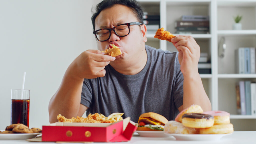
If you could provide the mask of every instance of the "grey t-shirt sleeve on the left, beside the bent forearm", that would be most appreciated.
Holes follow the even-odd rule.
[[[92,88],[91,82],[89,79],[84,79],[83,81],[83,88],[81,94],[81,102],[82,105],[90,108],[92,104]]]

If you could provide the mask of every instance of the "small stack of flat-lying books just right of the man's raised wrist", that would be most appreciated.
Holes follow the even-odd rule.
[[[208,53],[201,53],[198,62],[199,74],[211,74],[211,62],[208,60]]]

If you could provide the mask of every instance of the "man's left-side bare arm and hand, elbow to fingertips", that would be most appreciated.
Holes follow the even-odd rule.
[[[49,102],[49,121],[54,123],[57,115],[66,118],[79,116],[88,109],[80,104],[84,78],[103,77],[105,66],[115,57],[104,55],[100,50],[87,50],[81,53],[68,67],[57,92]]]

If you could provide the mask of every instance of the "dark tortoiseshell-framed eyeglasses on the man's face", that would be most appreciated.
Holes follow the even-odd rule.
[[[140,22],[131,22],[126,24],[121,24],[118,26],[115,26],[113,28],[102,28],[99,30],[95,30],[93,34],[96,36],[96,38],[100,41],[106,41],[110,38],[111,30],[114,31],[114,33],[120,37],[124,37],[130,34],[130,25],[142,25]]]

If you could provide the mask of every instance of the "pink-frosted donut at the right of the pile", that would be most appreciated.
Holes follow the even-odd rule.
[[[214,125],[230,123],[230,114],[226,111],[212,110],[212,111],[203,112],[203,114],[214,116]]]

